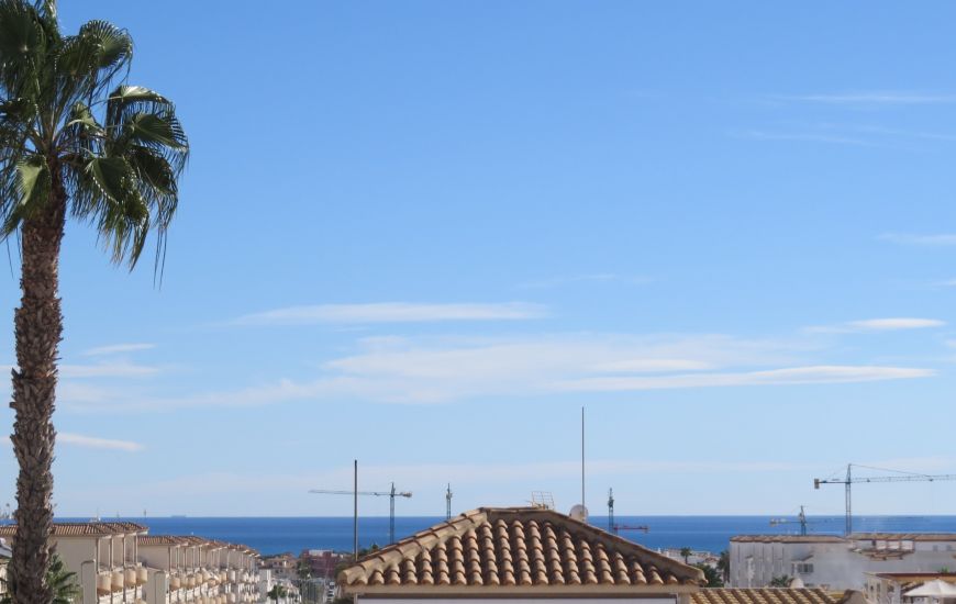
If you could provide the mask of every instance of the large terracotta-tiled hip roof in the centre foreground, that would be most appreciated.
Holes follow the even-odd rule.
[[[462,514],[338,575],[348,593],[534,588],[674,592],[696,590],[702,580],[699,569],[535,507],[482,507]]]

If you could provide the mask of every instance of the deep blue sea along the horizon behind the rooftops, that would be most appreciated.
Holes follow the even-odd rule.
[[[151,535],[199,535],[245,544],[263,553],[282,551],[298,553],[303,549],[352,551],[351,517],[124,519],[147,525]],[[443,519],[397,517],[397,538],[427,528]],[[812,533],[841,535],[843,532],[843,516],[810,516],[809,519]],[[727,548],[730,538],[734,535],[799,532],[799,525],[796,523],[770,526],[770,516],[618,516],[615,521],[621,525],[647,525],[649,527],[647,534],[622,532],[621,536],[654,549],[687,546],[693,549],[721,551]],[[607,517],[592,516],[591,523],[601,528],[608,527]],[[956,516],[858,516],[854,517],[854,529],[889,533],[956,533]],[[363,547],[373,543],[388,544],[388,517],[359,518],[358,536]]]

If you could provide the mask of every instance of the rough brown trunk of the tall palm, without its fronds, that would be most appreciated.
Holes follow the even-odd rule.
[[[59,245],[66,216],[66,191],[58,166],[52,165],[53,188],[41,212],[22,226],[23,292],[14,314],[16,363],[13,370],[15,412],[10,438],[20,476],[16,478],[16,538],[10,561],[10,591],[14,604],[49,604],[53,592],[46,584],[49,564],[48,537],[53,530],[53,446],[56,430],[53,410],[56,399],[57,348],[63,333],[57,289]]]

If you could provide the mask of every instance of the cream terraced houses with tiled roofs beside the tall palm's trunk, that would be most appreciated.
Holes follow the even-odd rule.
[[[258,552],[196,536],[151,536],[130,522],[54,524],[52,545],[76,573],[84,603],[241,604],[259,602],[270,578]],[[0,526],[15,547],[16,526]]]

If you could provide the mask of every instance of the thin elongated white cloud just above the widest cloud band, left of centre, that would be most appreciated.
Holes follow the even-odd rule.
[[[427,323],[448,321],[515,321],[547,316],[547,307],[527,302],[500,304],[318,304],[289,306],[236,318],[237,325],[313,325],[367,323]]]

